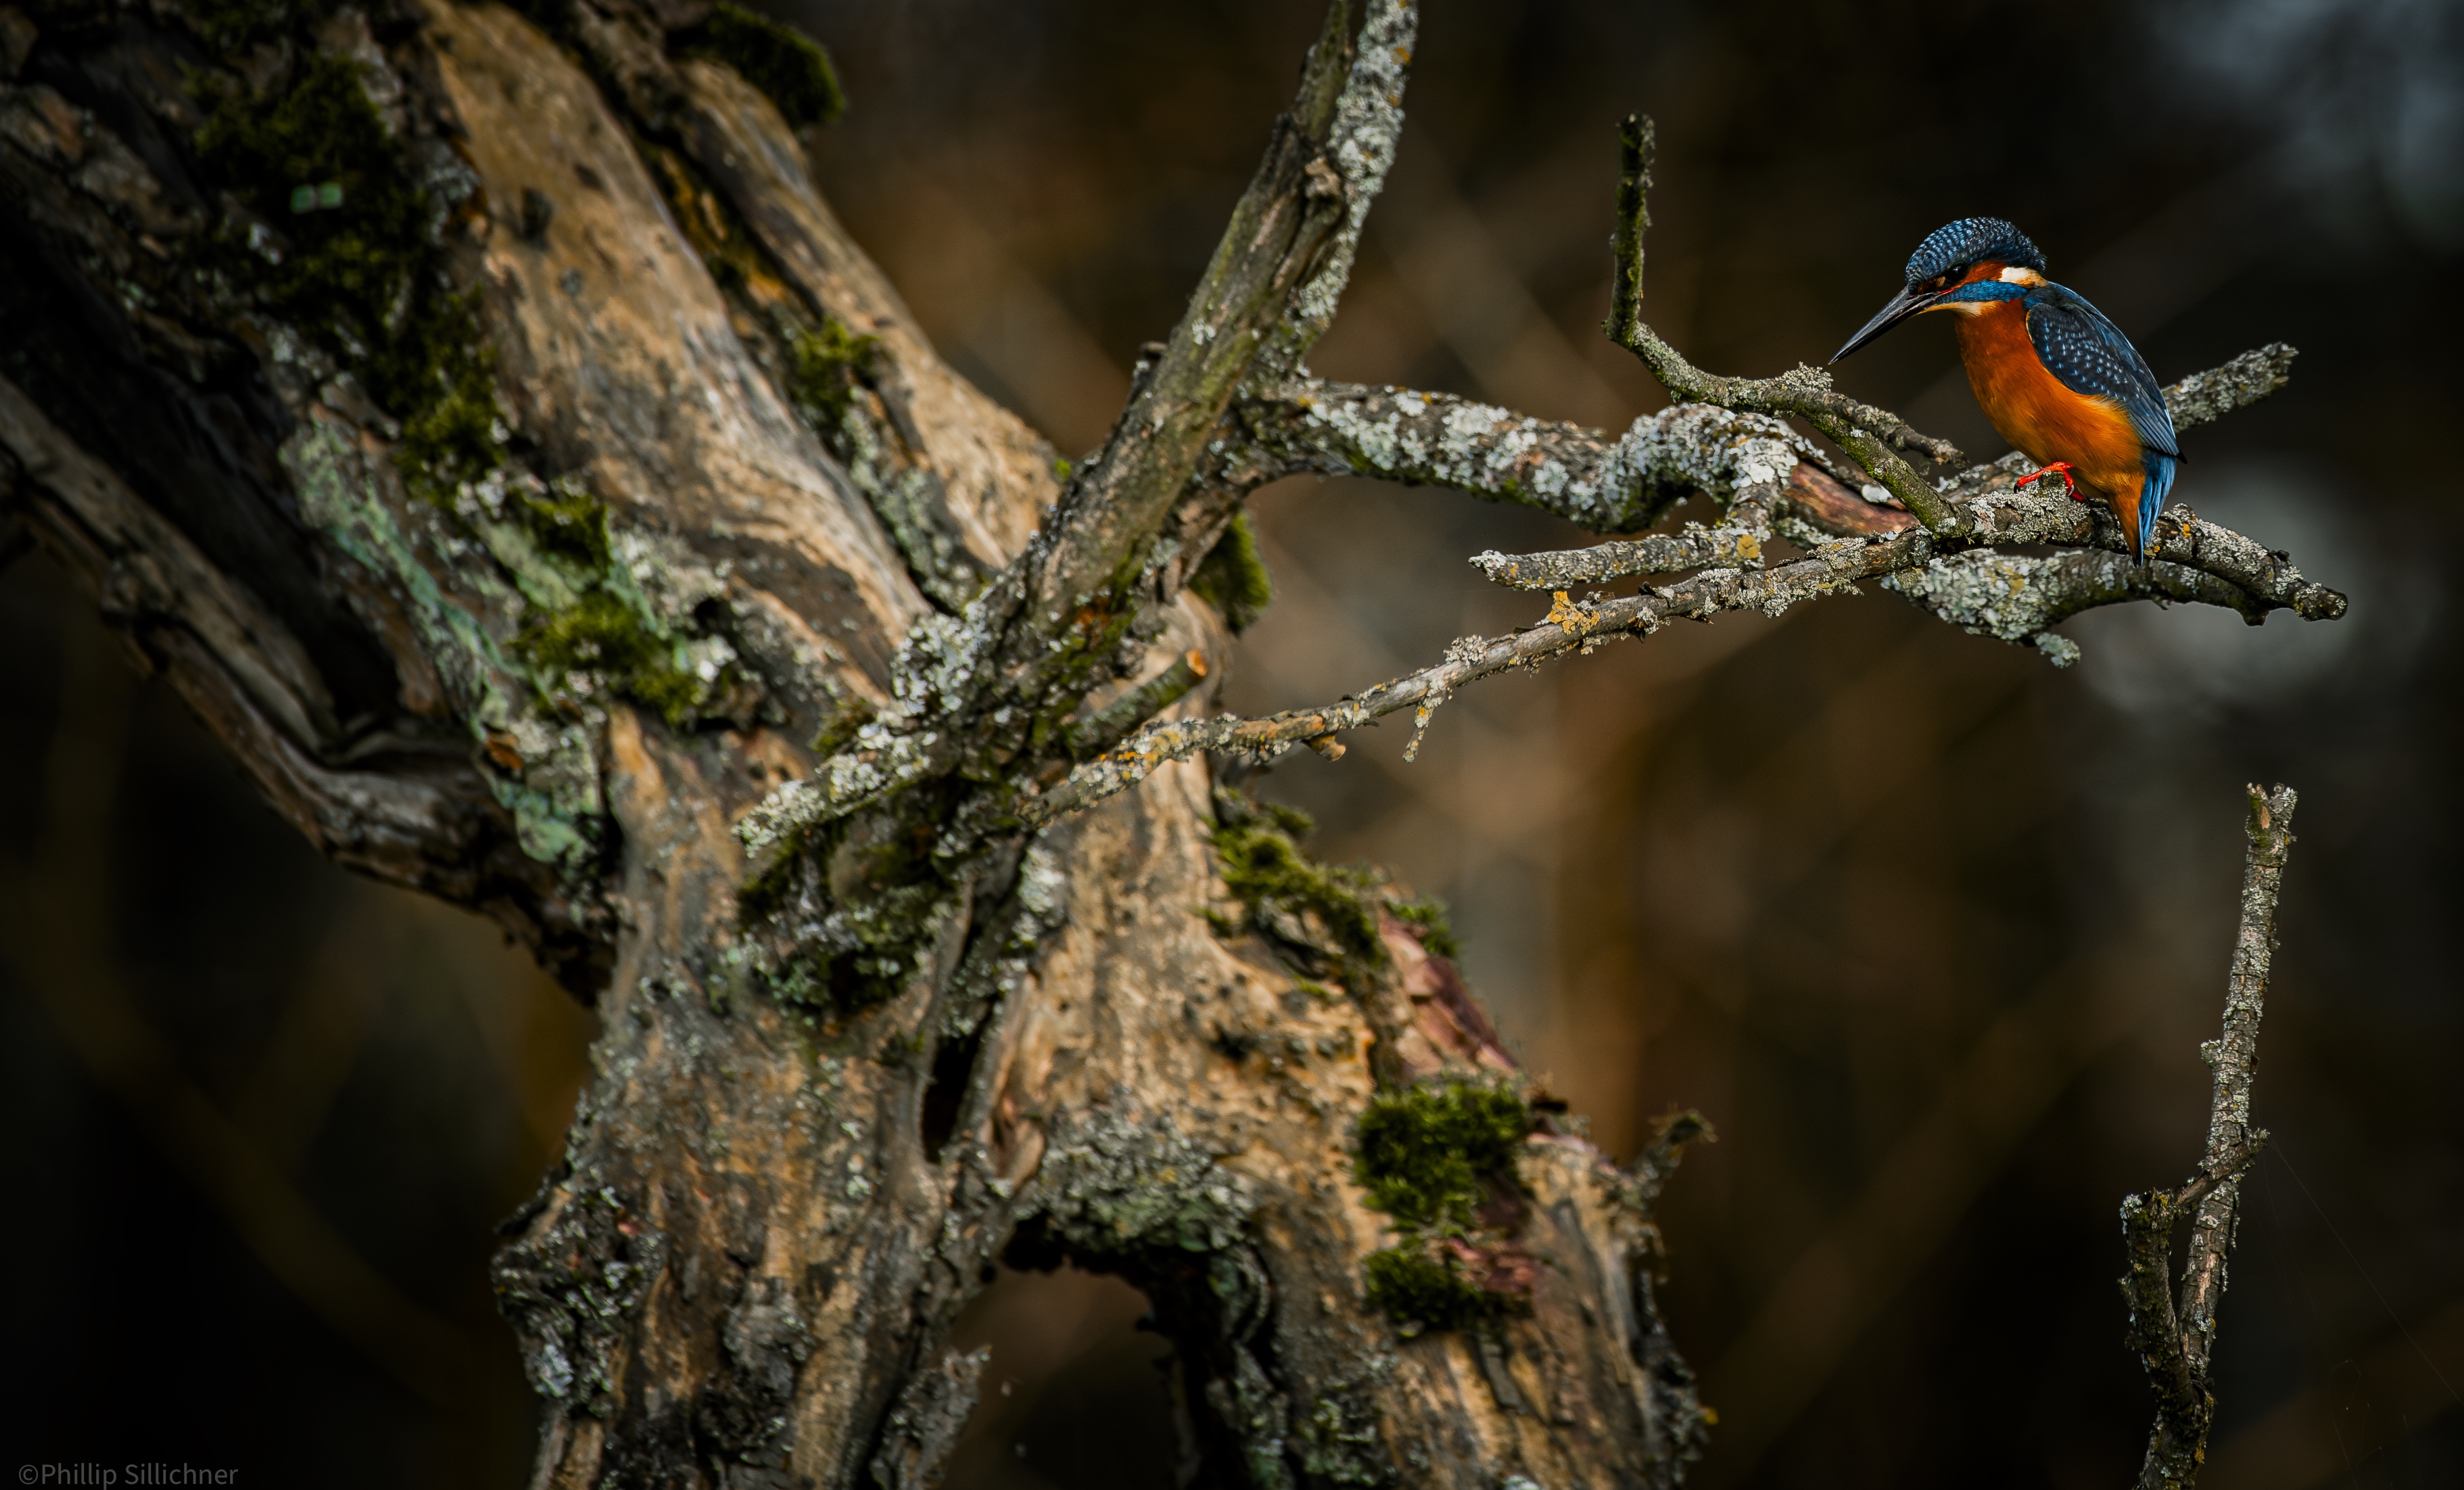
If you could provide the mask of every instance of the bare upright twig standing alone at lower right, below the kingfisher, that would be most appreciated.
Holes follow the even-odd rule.
[[[2208,1355],[2215,1347],[2215,1305],[2225,1295],[2225,1258],[2232,1254],[2232,1214],[2242,1170],[2267,1148],[2267,1133],[2250,1126],[2250,1081],[2259,1064],[2259,1015],[2267,1012],[2267,963],[2274,953],[2277,892],[2292,855],[2294,788],[2250,788],[2250,855],[2242,862],[2242,924],[2232,936],[2232,973],[2225,980],[2225,1032],[2198,1054],[2215,1069],[2208,1111],[2208,1153],[2176,1190],[2134,1194],[2122,1202],[2122,1236],[2129,1276],[2122,1298],[2131,1308],[2129,1345],[2156,1389],[2156,1426],[2149,1431],[2139,1490],[2188,1490],[2208,1458],[2215,1394],[2208,1389]],[[2195,1214],[2181,1298],[2173,1298],[2173,1222]]]

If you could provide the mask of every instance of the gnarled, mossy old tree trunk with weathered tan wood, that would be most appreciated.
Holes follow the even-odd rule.
[[[1008,1256],[1146,1291],[1202,1483],[1673,1485],[1690,1128],[1533,1108],[1429,909],[1202,759],[1020,805],[1222,677],[1207,453],[1333,315],[1409,5],[1333,5],[1077,468],[848,241],[766,27],[0,7],[5,522],[323,852],[601,1012],[498,1263],[540,1483],[929,1485]]]

